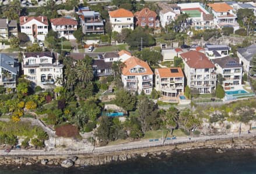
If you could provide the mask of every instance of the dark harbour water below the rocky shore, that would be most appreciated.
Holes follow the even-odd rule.
[[[117,162],[101,166],[64,169],[54,166],[1,166],[0,173],[103,173],[103,174],[164,174],[164,173],[256,173],[255,150],[229,150],[216,153],[216,150],[200,149],[173,153],[157,158],[136,158],[125,162]]]

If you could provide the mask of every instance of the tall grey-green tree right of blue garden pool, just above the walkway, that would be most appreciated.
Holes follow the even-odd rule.
[[[155,123],[157,117],[157,107],[147,96],[139,97],[138,102],[139,121],[141,121],[142,133]]]

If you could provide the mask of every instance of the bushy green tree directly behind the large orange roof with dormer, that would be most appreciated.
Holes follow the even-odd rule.
[[[160,52],[150,50],[148,48],[143,49],[140,53],[141,59],[147,61],[149,65],[156,65],[159,61],[163,59],[163,56]]]

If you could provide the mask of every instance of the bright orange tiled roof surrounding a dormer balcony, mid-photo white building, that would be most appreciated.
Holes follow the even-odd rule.
[[[125,67],[122,68],[122,74],[123,75],[153,75],[153,71],[149,67],[149,64],[146,63],[146,61],[143,61],[135,56],[130,57],[129,59],[124,61]],[[131,68],[134,68],[136,66],[141,66],[145,68],[144,73],[131,73]]]

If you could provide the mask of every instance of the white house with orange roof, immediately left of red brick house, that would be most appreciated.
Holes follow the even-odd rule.
[[[112,31],[121,32],[122,28],[134,30],[134,14],[129,10],[117,9],[108,12]]]

